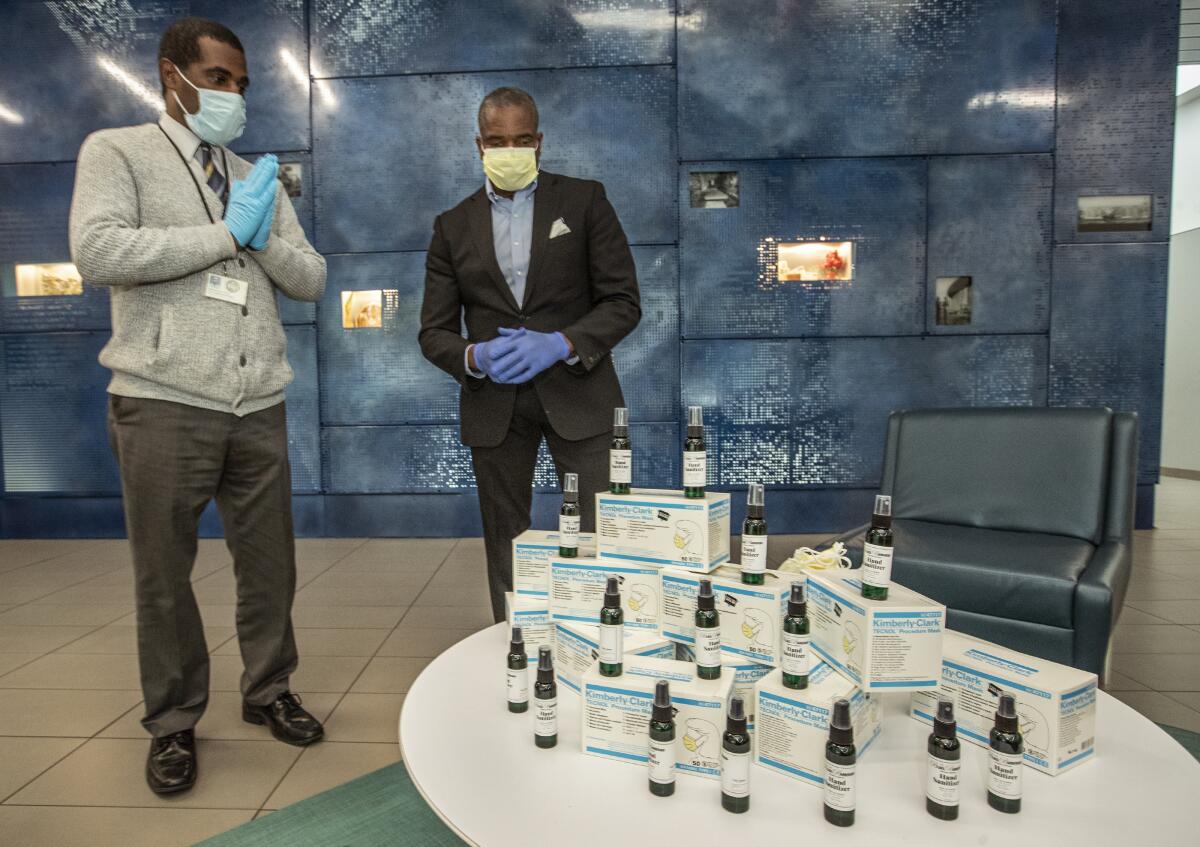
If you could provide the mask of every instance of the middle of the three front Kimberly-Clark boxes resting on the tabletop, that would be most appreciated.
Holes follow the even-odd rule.
[[[812,666],[809,687],[799,691],[785,687],[782,673],[776,668],[755,686],[755,762],[810,785],[823,785],[834,701],[850,701],[854,746],[862,756],[880,734],[880,697],[857,687],[824,662]]]

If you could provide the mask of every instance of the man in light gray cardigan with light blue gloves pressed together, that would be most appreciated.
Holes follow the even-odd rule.
[[[108,432],[133,549],[146,781],[197,775],[193,727],[209,659],[192,593],[200,512],[216,499],[238,581],[242,717],[289,744],[323,737],[290,692],[295,546],[283,389],[292,382],[276,290],[316,301],[325,260],[282,191],[277,162],[226,145],[245,124],[238,37],[185,18],[163,35],[166,114],[102,130],[79,151],[71,253],[108,287]]]

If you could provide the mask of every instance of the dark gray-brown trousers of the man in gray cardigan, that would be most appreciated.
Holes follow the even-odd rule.
[[[192,593],[200,513],[216,498],[238,582],[242,697],[272,702],[298,663],[295,541],[283,403],[245,418],[109,397],[133,548],[138,661],[155,737],[190,729],[209,698],[209,655]]]

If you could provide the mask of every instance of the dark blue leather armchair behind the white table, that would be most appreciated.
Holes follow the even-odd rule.
[[[1133,557],[1138,416],[929,409],[888,420],[892,578],[950,629],[1102,674]],[[860,527],[841,537],[862,563]]]

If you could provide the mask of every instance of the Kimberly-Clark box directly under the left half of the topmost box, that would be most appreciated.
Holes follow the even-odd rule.
[[[600,559],[551,559],[550,617],[577,624],[600,624],[604,589],[617,577],[625,626],[659,629],[662,585],[655,565],[601,561]]]

